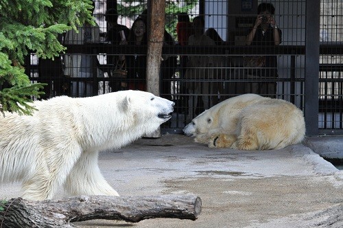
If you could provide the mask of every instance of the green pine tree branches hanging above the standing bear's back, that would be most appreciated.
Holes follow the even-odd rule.
[[[1,0],[0,1],[0,111],[28,115],[34,111],[44,84],[32,84],[25,75],[24,57],[39,58],[63,53],[58,34],[76,30],[85,21],[94,23],[91,0]],[[5,84],[8,88],[4,89]]]

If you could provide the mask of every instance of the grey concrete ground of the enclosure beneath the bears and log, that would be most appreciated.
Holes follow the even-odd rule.
[[[304,144],[282,150],[247,152],[207,148],[191,137],[163,135],[102,152],[99,167],[121,196],[196,194],[202,199],[202,213],[196,221],[89,220],[75,225],[342,227],[343,171],[314,152],[322,145],[317,139],[307,138]],[[343,150],[343,138],[335,139]],[[0,186],[0,198],[18,196],[18,184]],[[56,198],[62,196],[60,191]]]

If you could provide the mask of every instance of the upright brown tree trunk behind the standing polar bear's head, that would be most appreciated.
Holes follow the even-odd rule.
[[[162,58],[163,38],[165,34],[165,1],[151,1],[149,16],[149,38],[147,41],[147,91],[160,95],[160,68]],[[161,129],[158,128],[146,137],[161,137]]]

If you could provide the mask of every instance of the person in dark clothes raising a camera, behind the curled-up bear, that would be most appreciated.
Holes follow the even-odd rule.
[[[272,3],[259,4],[254,27],[252,27],[252,30],[246,36],[246,45],[280,45],[282,33],[276,25],[273,17],[274,12],[275,8]],[[248,69],[248,75],[255,76],[257,79],[276,80],[278,78],[276,56],[262,56],[260,59],[259,67]],[[250,66],[254,67],[253,64]],[[253,83],[251,90],[247,92],[275,97],[276,82],[261,82],[258,85]]]

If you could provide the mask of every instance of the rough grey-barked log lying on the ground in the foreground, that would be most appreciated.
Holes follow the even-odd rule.
[[[198,196],[73,196],[60,200],[12,198],[0,212],[1,227],[75,227],[76,221],[106,219],[138,223],[148,218],[196,220]]]

